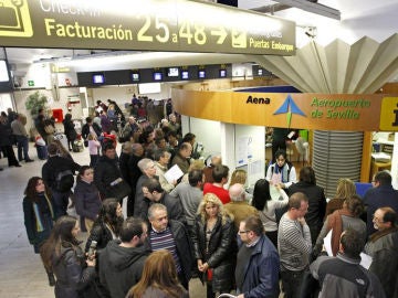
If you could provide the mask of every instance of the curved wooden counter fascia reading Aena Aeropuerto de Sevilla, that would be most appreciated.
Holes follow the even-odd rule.
[[[179,114],[223,123],[324,130],[398,131],[398,96],[171,91]]]

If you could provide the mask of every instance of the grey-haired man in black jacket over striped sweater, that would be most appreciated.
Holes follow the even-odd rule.
[[[148,233],[148,244],[153,252],[167,249],[176,262],[178,279],[188,290],[193,264],[192,244],[187,228],[178,221],[168,220],[167,209],[155,203],[148,210],[151,228]]]

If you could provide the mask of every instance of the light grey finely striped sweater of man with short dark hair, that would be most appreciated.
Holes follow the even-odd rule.
[[[290,220],[287,213],[283,214],[277,231],[277,251],[282,272],[305,269],[312,251],[308,225],[302,226],[298,221]]]

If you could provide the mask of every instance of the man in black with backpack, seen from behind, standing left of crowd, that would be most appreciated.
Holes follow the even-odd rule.
[[[70,171],[70,175],[75,174],[81,166],[69,158],[59,156],[59,148],[55,143],[50,143],[48,147],[49,160],[43,164],[42,178],[45,184],[51,189],[55,219],[66,215],[69,198],[71,195],[71,188],[60,189],[57,177],[60,173]]]

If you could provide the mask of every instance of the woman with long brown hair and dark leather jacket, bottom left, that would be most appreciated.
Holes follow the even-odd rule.
[[[76,217],[61,216],[40,249],[44,266],[56,276],[55,298],[94,297],[90,285],[95,276],[95,255],[85,257],[76,240],[78,231]]]

